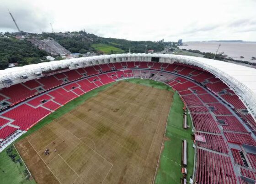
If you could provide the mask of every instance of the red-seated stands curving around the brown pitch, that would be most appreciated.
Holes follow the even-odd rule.
[[[245,105],[219,78],[197,66],[185,64],[115,62],[65,71],[3,88],[0,90],[0,103],[7,102],[7,105],[1,105],[0,108],[12,108],[0,113],[0,148],[16,131],[28,130],[70,100],[96,87],[129,77],[165,82],[181,95],[191,113],[195,133],[205,136],[207,141],[197,143],[198,184],[237,183],[230,157],[235,159],[236,164],[245,164],[240,150],[229,148],[229,144],[256,146],[256,141],[248,133],[249,128],[251,131],[256,130],[256,122],[250,114],[240,112],[246,109]],[[243,123],[251,126],[246,129]],[[256,169],[256,155],[247,153],[246,157],[251,167]],[[253,172],[248,169],[242,168],[241,175],[255,179]],[[240,183],[246,183],[242,178],[239,179]]]

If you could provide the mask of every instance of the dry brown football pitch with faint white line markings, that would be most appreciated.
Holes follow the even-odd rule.
[[[172,96],[118,82],[15,146],[38,184],[149,184]]]

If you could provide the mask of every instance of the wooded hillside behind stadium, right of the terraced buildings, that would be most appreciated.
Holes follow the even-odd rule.
[[[165,45],[161,42],[153,41],[128,41],[125,39],[116,39],[116,38],[103,38],[96,36],[94,34],[86,33],[85,31],[75,31],[75,32],[66,32],[66,33],[43,33],[42,38],[53,38],[60,45],[64,46],[70,52],[80,52],[86,53],[91,51],[101,51],[97,50],[93,44],[104,44],[104,46],[113,46],[113,53],[123,53],[128,52],[131,49],[133,53],[144,53],[150,49],[154,51],[162,51],[165,48]],[[104,49],[104,48],[103,48]],[[120,49],[120,50],[117,50]],[[107,53],[102,51],[105,54],[111,54],[112,49],[107,48]],[[116,52],[115,52],[116,51]],[[102,53],[100,52],[100,53]]]

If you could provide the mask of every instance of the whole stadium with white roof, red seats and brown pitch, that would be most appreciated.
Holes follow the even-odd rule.
[[[44,62],[0,71],[0,108],[0,152],[36,183],[256,182],[253,68],[168,54]]]

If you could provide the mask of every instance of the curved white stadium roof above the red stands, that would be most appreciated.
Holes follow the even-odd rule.
[[[159,57],[160,62],[179,62],[198,66],[208,72],[211,72],[213,75],[226,83],[231,89],[233,89],[240,99],[245,103],[245,106],[248,107],[248,110],[253,114],[253,116],[256,116],[256,69],[202,57],[139,53],[81,57],[0,70],[0,82],[7,79],[17,79],[24,75],[35,75],[36,72],[43,72],[50,69],[64,67],[75,69],[109,62],[151,61],[151,57]],[[2,86],[0,88],[2,88]]]

